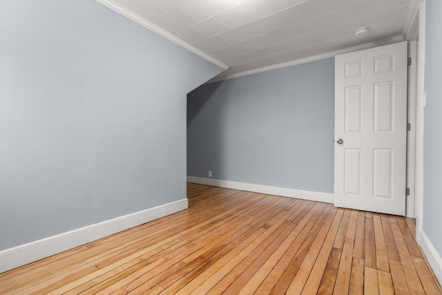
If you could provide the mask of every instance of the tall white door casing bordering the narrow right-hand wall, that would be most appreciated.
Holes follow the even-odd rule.
[[[416,103],[416,162],[414,175],[414,192],[416,218],[416,238],[421,237],[423,227],[423,108],[425,99],[425,0],[419,6],[419,42],[417,58],[417,103]]]

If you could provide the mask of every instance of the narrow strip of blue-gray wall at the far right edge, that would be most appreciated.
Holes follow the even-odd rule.
[[[423,230],[442,256],[442,1],[425,5]]]

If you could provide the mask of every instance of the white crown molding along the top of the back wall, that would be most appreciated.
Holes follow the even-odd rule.
[[[285,68],[287,66],[295,66],[297,64],[305,64],[305,63],[310,62],[310,61],[316,61],[316,60],[319,60],[319,59],[325,59],[325,58],[328,58],[328,57],[334,57],[336,55],[342,55],[342,54],[345,54],[345,53],[353,53],[353,52],[358,51],[358,50],[365,50],[365,49],[374,48],[374,47],[378,47],[378,46],[394,44],[394,43],[398,43],[398,42],[401,42],[401,41],[404,41],[402,36],[391,37],[391,38],[388,38],[388,39],[383,39],[381,41],[374,41],[374,42],[370,42],[370,43],[366,43],[366,44],[361,44],[361,45],[358,45],[358,46],[353,46],[353,47],[349,47],[349,48],[345,48],[345,49],[331,51],[329,53],[323,53],[323,54],[320,54],[320,55],[314,55],[312,57],[305,57],[305,58],[302,58],[302,59],[296,59],[294,61],[287,61],[287,62],[284,62],[282,64],[274,64],[274,65],[271,65],[271,66],[265,66],[263,68],[255,68],[253,70],[246,70],[246,71],[241,72],[241,73],[234,73],[234,74],[227,75],[227,76],[224,76],[224,77],[214,77],[213,79],[211,79],[208,82],[206,82],[206,84],[213,83],[213,82],[220,82],[220,81],[223,81],[223,80],[238,78],[238,77],[247,76],[247,75],[253,75],[253,74],[262,73],[262,72],[267,72],[267,70],[276,70],[278,68]]]

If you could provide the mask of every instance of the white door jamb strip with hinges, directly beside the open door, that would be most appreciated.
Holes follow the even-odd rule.
[[[415,191],[414,177],[416,165],[416,84],[417,84],[417,41],[408,42],[408,57],[411,57],[412,64],[408,66],[407,83],[407,123],[411,124],[411,130],[407,131],[407,188],[410,195],[406,197],[405,216],[415,216]]]

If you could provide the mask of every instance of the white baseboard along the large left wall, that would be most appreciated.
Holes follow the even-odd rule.
[[[187,209],[187,199],[145,209],[0,251],[0,273]]]

